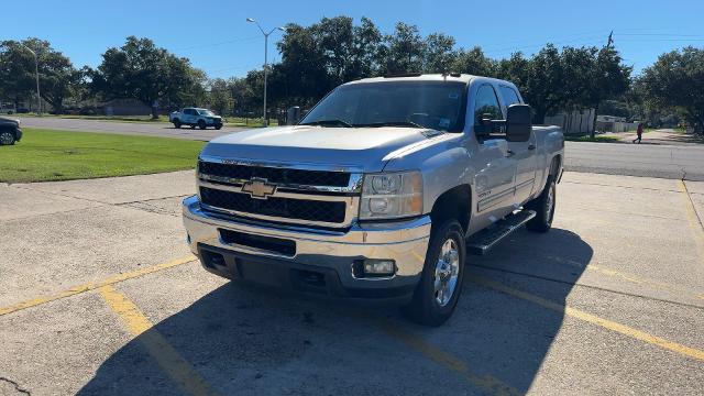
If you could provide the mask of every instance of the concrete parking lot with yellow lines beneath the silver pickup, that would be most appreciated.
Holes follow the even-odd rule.
[[[194,190],[0,185],[0,395],[704,394],[703,182],[566,173],[440,328],[206,273]]]

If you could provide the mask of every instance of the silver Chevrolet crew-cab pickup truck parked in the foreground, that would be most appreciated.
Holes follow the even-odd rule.
[[[393,301],[439,326],[468,254],[547,232],[564,161],[509,81],[469,75],[344,84],[293,127],[210,141],[183,201],[190,250],[232,279]]]

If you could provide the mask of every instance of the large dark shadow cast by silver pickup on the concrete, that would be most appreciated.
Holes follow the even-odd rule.
[[[437,394],[439,383],[448,394],[494,393],[482,386],[482,378],[526,393],[562,326],[563,312],[477,279],[564,304],[591,257],[590,245],[570,231],[519,231],[488,255],[470,257],[458,310],[440,328],[413,324],[392,308],[362,308],[229,283],[127,342],[78,394],[180,394],[174,377],[189,378],[193,373],[224,395],[419,395]],[[433,360],[399,332],[451,354],[469,375],[458,375],[457,367]],[[166,339],[193,366],[190,374],[154,358],[160,353],[151,344],[155,337]]]

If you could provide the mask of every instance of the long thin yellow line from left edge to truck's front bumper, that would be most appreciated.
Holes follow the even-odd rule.
[[[78,285],[78,286],[74,286],[67,290],[64,292],[59,292],[55,295],[51,295],[51,296],[45,296],[45,297],[37,297],[37,298],[32,298],[22,302],[18,302],[8,307],[0,307],[0,316],[3,315],[8,315],[8,314],[12,314],[12,312],[16,312],[23,309],[28,309],[28,308],[32,308],[32,307],[36,307],[46,302],[51,302],[51,301],[55,301],[62,298],[66,298],[66,297],[70,297],[70,296],[75,296],[77,294],[81,294],[81,293],[86,293],[86,292],[90,292],[90,290],[95,290],[97,288],[100,288],[102,286],[108,286],[108,285],[113,285],[117,284],[119,282],[123,282],[127,279],[132,279],[132,278],[136,278],[140,276],[144,276],[147,274],[152,274],[155,272],[160,272],[160,271],[164,271],[167,268],[172,268],[175,267],[177,265],[183,265],[183,264],[187,264],[193,262],[194,260],[196,260],[196,256],[194,255],[187,255],[180,258],[176,258],[176,260],[172,260],[167,263],[162,263],[162,264],[157,264],[154,266],[148,266],[148,267],[144,267],[144,268],[140,268],[136,271],[130,271],[123,274],[118,274],[118,275],[113,275],[110,276],[109,278],[105,279],[105,280],[100,280],[100,282],[90,282],[87,284],[82,284],[82,285]]]

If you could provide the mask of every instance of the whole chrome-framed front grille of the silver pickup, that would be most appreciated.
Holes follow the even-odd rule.
[[[273,194],[254,195],[253,180],[265,183]],[[337,167],[301,169],[212,157],[198,162],[198,193],[206,210],[292,224],[350,226],[358,215],[361,182],[361,172]]]

